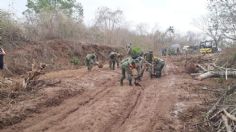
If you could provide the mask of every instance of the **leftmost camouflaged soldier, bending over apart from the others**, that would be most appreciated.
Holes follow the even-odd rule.
[[[91,71],[93,68],[93,65],[95,64],[98,64],[96,54],[95,53],[87,54],[85,58],[85,65],[87,66],[88,71]]]

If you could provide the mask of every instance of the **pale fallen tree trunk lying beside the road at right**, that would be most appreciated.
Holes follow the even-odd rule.
[[[206,73],[199,75],[198,77],[196,77],[196,79],[203,80],[206,78],[223,77],[223,76],[236,78],[236,71],[227,71],[227,72],[225,72],[225,71],[208,71]]]

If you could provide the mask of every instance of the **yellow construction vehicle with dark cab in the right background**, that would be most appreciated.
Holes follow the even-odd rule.
[[[203,41],[200,43],[200,53],[211,54],[218,51],[217,45],[213,40]]]

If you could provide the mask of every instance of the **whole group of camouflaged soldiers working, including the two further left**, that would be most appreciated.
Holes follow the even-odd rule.
[[[147,53],[141,52],[138,55],[132,56],[130,49],[128,50],[128,57],[122,60],[122,55],[116,51],[110,51],[108,55],[109,68],[115,70],[115,67],[121,69],[120,85],[123,86],[123,81],[127,77],[129,85],[132,86],[132,81],[137,85],[138,81],[142,80],[145,71],[149,72],[150,77],[161,77],[161,71],[165,62],[154,56],[153,51]],[[95,53],[88,54],[85,58],[85,64],[89,71],[93,65],[98,65],[97,56]],[[121,66],[120,66],[121,65]]]

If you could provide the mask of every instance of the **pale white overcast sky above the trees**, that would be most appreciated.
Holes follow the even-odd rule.
[[[12,4],[13,1],[13,4]],[[174,26],[179,32],[198,31],[193,20],[207,13],[207,0],[79,0],[84,8],[84,21],[91,25],[98,7],[123,10],[130,28],[145,23],[148,28],[158,25],[164,30]],[[17,16],[26,9],[27,0],[1,0],[0,8],[16,12]],[[13,8],[12,8],[13,7]]]

